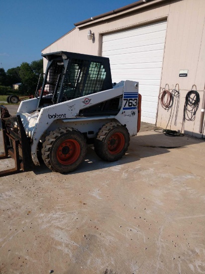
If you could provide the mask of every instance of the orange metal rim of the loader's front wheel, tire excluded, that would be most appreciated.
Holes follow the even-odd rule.
[[[57,159],[59,163],[68,165],[73,164],[80,156],[81,146],[74,139],[63,141],[57,149]]]

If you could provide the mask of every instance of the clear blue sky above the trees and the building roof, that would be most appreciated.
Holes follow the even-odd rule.
[[[137,0],[0,0],[0,68],[39,60],[74,23]]]

